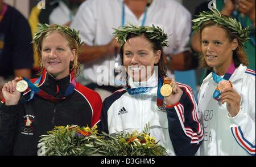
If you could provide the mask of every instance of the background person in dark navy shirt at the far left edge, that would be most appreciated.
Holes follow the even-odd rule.
[[[31,77],[31,40],[30,26],[26,18],[0,0],[0,90],[14,76]],[[2,98],[0,93],[0,100]]]

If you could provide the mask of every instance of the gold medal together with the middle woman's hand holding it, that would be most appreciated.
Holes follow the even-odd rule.
[[[183,91],[180,89],[179,85],[177,85],[174,78],[166,77],[164,78],[160,93],[164,96],[166,105],[174,105],[180,101]]]

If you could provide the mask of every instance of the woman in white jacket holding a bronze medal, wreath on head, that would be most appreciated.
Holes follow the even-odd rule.
[[[192,20],[200,31],[201,66],[212,70],[199,92],[204,127],[200,155],[255,155],[255,72],[243,46],[249,27],[216,9]]]

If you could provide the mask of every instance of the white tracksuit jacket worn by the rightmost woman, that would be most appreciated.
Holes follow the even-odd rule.
[[[210,73],[199,92],[200,120],[204,127],[204,142],[200,155],[255,156],[255,72],[240,65],[229,79],[241,96],[240,111],[230,117],[226,103],[212,98],[217,83]]]

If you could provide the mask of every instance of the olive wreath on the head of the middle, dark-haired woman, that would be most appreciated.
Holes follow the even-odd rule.
[[[133,24],[126,24],[123,27],[113,28],[115,31],[113,36],[115,36],[115,40],[119,42],[121,46],[125,44],[127,36],[131,34],[142,35],[143,33],[150,39],[158,41],[161,46],[168,46],[168,36],[164,33],[163,29],[152,24],[152,27],[146,26],[137,26]]]

